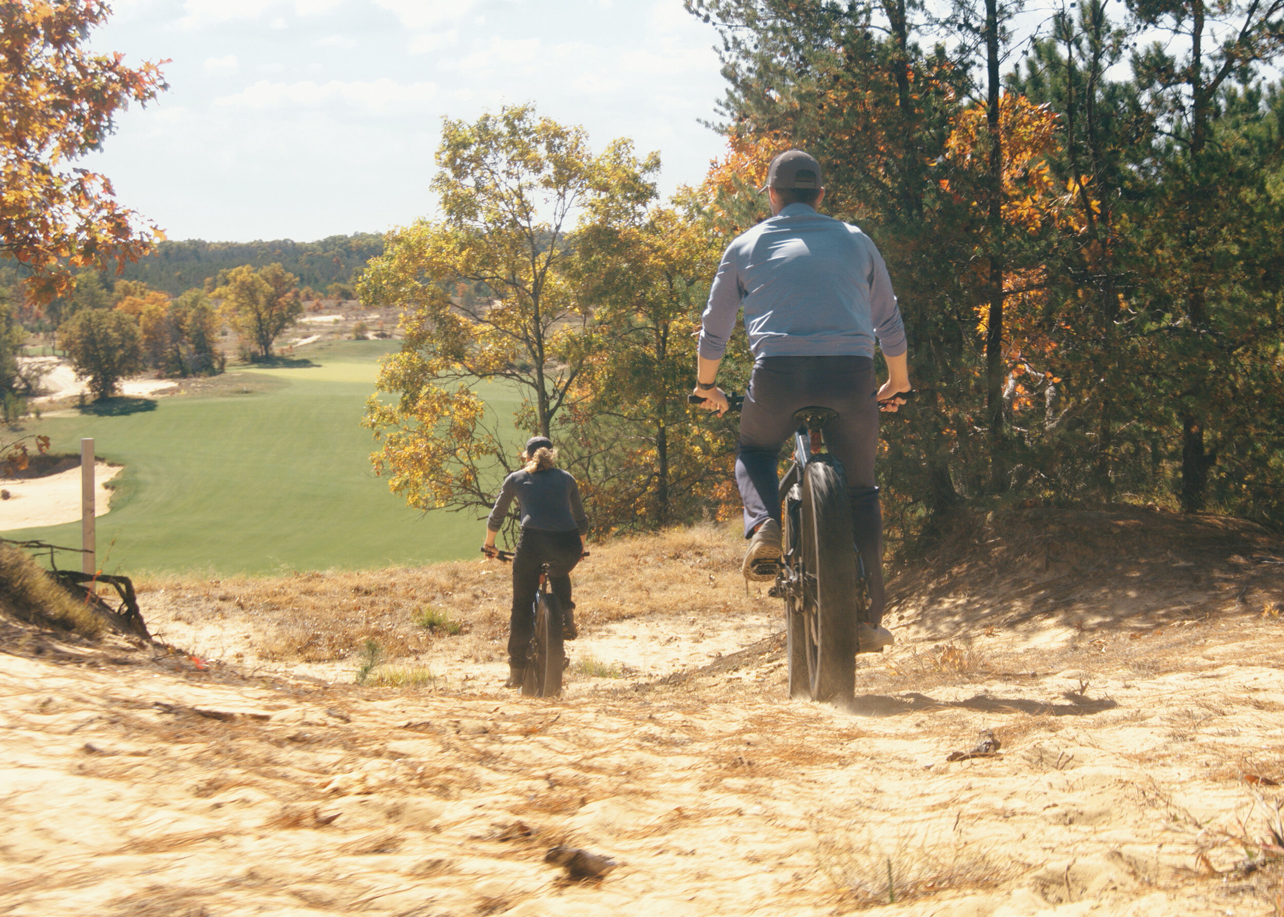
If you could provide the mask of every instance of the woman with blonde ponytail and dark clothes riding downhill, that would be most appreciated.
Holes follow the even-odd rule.
[[[573,615],[575,604],[570,600],[570,572],[584,554],[588,533],[588,516],[579,501],[579,487],[569,473],[557,467],[557,451],[552,442],[547,437],[532,437],[521,460],[526,466],[503,479],[482,546],[488,557],[498,555],[494,537],[516,497],[521,511],[521,538],[512,557],[512,618],[505,687],[521,687],[525,677],[539,568],[544,564],[548,565],[548,584],[564,610],[564,638],[575,640],[578,636]]]

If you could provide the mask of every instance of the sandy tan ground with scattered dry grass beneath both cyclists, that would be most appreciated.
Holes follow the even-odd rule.
[[[1217,537],[1222,560],[1266,545]],[[937,593],[900,595],[901,646],[862,659],[856,708],[837,710],[785,700],[776,602],[709,573],[738,548],[719,538],[600,552],[571,655],[624,677],[573,674],[560,700],[498,686],[505,596],[484,564],[145,584],[171,642],[236,638],[222,663],[3,624],[0,913],[1275,912],[1261,841],[1279,828],[1284,623],[1266,561],[1234,592],[1185,583],[1179,605],[1154,581],[1159,598],[1138,592],[1109,627],[1084,623],[1099,602],[999,625],[985,613],[1019,609],[977,600],[971,640],[919,616],[924,596],[958,609],[949,568],[924,569]],[[625,559],[648,602],[629,601]],[[978,592],[969,577],[951,595]],[[1004,595],[1026,586],[1013,574]],[[307,620],[327,632],[308,596],[437,683],[352,683],[351,646],[327,660],[295,640]],[[467,627],[397,643],[380,596]],[[719,647],[702,661],[695,633]],[[998,755],[946,760],[982,729]],[[557,844],[619,866],[570,881],[543,860]]]

